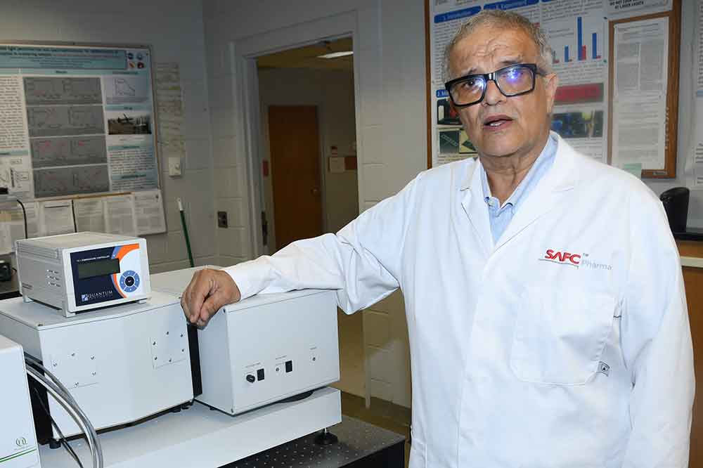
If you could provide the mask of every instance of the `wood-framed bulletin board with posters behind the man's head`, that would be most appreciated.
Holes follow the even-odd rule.
[[[681,23],[676,18],[681,15],[681,0],[427,0],[427,167],[477,156],[476,149],[449,104],[449,95],[444,89],[442,63],[444,48],[458,27],[472,15],[489,9],[519,13],[531,22],[538,23],[545,32],[553,49],[553,69],[560,79],[552,115],[553,131],[560,134],[574,149],[594,160],[624,169],[627,169],[626,165],[639,163],[643,169],[642,176],[661,178],[676,175],[678,79],[673,74],[676,73],[678,77]],[[619,70],[626,71],[623,65],[632,65],[639,67],[638,70],[649,72],[656,64],[661,66],[662,61],[664,68],[667,64],[669,66],[669,70],[663,74],[664,81],[657,82],[661,92],[656,97],[652,96],[651,102],[647,101],[659,106],[657,115],[652,119],[656,119],[656,135],[662,138],[662,143],[655,148],[656,155],[652,155],[649,143],[640,144],[638,125],[632,122],[629,126],[624,125],[627,116],[619,112],[620,108],[614,110],[612,106],[614,99],[619,99],[620,102],[630,99],[633,100],[631,109],[634,110],[635,97],[638,94],[642,97],[641,92],[636,93],[631,88],[622,86],[620,90],[627,92],[615,93],[615,96],[612,94],[613,87],[620,83],[613,78],[617,72],[617,67],[614,69],[613,66],[614,50],[615,53],[618,51],[613,48],[613,44],[617,39],[623,44],[635,42],[621,30],[621,25],[637,24],[631,22],[652,18],[666,18],[657,20],[657,25],[666,21],[666,28],[650,30],[645,25],[647,34],[659,34],[650,39],[664,41],[666,48],[654,51],[658,51],[659,56],[654,53],[626,59],[621,56],[625,60],[619,62]],[[613,30],[620,30],[621,34],[613,37]],[[638,44],[641,46],[644,42],[647,41]],[[620,50],[625,51],[626,47]],[[663,56],[662,51],[665,51]],[[654,65],[650,61],[652,58],[656,60]],[[641,63],[637,60],[641,60]],[[631,63],[633,61],[637,63]],[[624,75],[621,74],[622,76]],[[640,84],[642,83],[638,81],[638,86]],[[652,88],[655,87],[652,85]],[[640,91],[642,89],[644,88],[639,88]],[[654,93],[654,89],[647,91]],[[638,115],[638,119],[642,118],[643,115]],[[646,132],[651,140],[651,128],[645,128],[640,133]],[[624,142],[633,144],[624,146]],[[613,143],[619,154],[628,157],[613,159]],[[647,151],[638,152],[642,149]],[[643,155],[648,155],[648,158]]]

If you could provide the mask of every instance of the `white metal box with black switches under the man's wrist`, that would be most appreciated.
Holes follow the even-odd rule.
[[[181,292],[194,272],[153,275],[153,288]],[[231,415],[337,382],[337,296],[302,290],[224,306],[198,330],[198,349],[202,394],[195,399]]]

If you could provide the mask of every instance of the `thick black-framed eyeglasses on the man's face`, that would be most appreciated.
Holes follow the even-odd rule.
[[[488,82],[492,81],[508,98],[534,90],[534,77],[542,74],[534,63],[518,63],[492,73],[467,74],[444,84],[451,102],[458,108],[480,103],[486,96]]]

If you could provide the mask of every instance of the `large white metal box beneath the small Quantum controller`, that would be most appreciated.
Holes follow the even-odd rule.
[[[145,304],[72,318],[37,302],[7,299],[0,301],[0,334],[41,360],[96,429],[135,422],[193,399],[186,320],[172,295],[154,293]],[[79,433],[51,398],[49,412],[66,436]]]

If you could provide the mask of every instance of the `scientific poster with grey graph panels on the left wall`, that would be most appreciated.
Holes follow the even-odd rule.
[[[0,186],[22,200],[158,188],[151,83],[146,47],[0,44]]]

